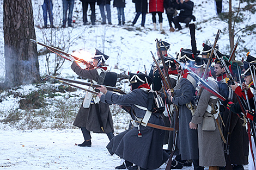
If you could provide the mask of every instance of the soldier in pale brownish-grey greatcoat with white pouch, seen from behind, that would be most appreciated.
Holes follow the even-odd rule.
[[[199,77],[202,77],[208,60],[196,57],[196,73]],[[207,83],[218,91],[214,78],[209,76]],[[209,170],[218,170],[219,167],[226,165],[221,131],[217,124],[217,121],[220,124],[220,117],[214,112],[216,104],[217,97],[203,89],[197,109],[189,123],[191,129],[198,129],[199,166],[209,167]]]

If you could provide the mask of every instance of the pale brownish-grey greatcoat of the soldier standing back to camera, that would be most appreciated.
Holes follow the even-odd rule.
[[[218,91],[218,85],[213,78],[208,78],[208,84]],[[209,104],[217,103],[216,99],[211,99],[210,96],[212,94],[203,89],[200,99],[198,101],[197,109],[192,118],[193,123],[198,124],[198,146],[199,146],[199,166],[225,166],[225,157],[224,157],[224,147],[223,141],[220,135],[220,131],[218,130],[217,123],[215,119],[210,118],[211,123],[215,124],[215,130],[202,130],[202,125],[206,128],[209,128],[209,124],[203,124],[204,116],[209,113],[206,111],[206,108]],[[213,121],[213,122],[212,122]],[[220,117],[217,118],[217,121],[220,122]]]

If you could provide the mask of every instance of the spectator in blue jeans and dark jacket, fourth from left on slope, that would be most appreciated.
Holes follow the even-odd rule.
[[[100,7],[100,14],[102,17],[102,25],[106,24],[106,14],[105,14],[105,8],[107,11],[107,21],[109,25],[112,25],[111,23],[111,10],[110,10],[110,1],[111,0],[97,0],[97,5]]]

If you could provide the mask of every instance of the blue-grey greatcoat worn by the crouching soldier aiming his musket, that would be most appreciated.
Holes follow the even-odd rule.
[[[102,102],[130,106],[139,118],[143,118],[145,110],[139,109],[136,105],[147,108],[148,92],[142,89],[135,89],[127,95],[117,95],[113,92],[107,92],[101,96]],[[164,125],[161,113],[153,113],[149,123]],[[111,155],[117,154],[129,162],[145,169],[159,168],[169,155],[162,149],[164,130],[151,127],[139,126],[142,137],[138,137],[138,128],[133,127],[123,133],[115,136],[108,143],[107,149]]]

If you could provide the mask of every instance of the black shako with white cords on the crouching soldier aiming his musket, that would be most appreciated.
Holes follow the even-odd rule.
[[[130,78],[129,78],[130,84],[137,84],[137,83],[138,84],[146,84],[146,83],[148,83],[149,86],[152,84],[152,81],[153,81],[152,78],[142,72],[137,72],[137,74],[129,72],[128,74],[130,76]]]

